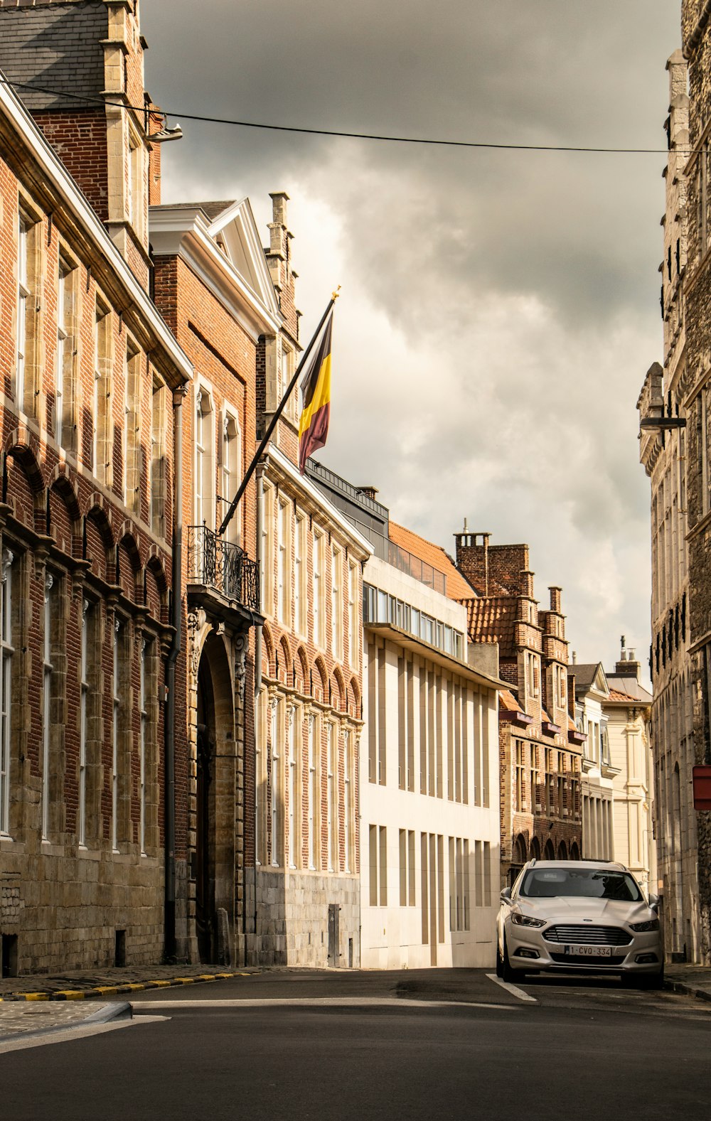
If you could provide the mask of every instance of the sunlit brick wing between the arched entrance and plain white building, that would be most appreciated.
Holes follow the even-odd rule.
[[[299,351],[287,196],[267,249],[283,326],[260,339],[266,432]],[[248,962],[360,962],[359,740],[368,541],[301,475],[288,400],[257,472],[264,628],[256,638],[255,832],[246,837]]]

